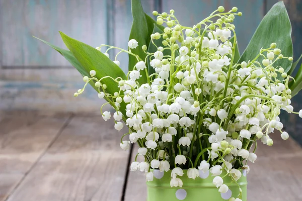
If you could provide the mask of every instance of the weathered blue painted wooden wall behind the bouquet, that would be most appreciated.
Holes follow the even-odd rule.
[[[249,43],[266,12],[278,0],[142,0],[144,11],[175,14],[183,25],[192,26],[218,6],[238,7],[243,13],[234,21],[240,52]],[[294,57],[302,52],[302,0],[284,1],[292,23]],[[72,96],[82,87],[82,77],[57,52],[32,35],[64,47],[58,31],[91,46],[109,44],[127,48],[132,23],[130,0],[0,0],[0,109],[99,111],[101,105],[88,87],[83,96]],[[115,55],[116,52],[111,52]],[[128,56],[118,58],[124,71]],[[293,99],[298,108],[301,95]],[[296,116],[283,115],[292,133],[301,129]],[[301,128],[300,128],[301,127]],[[302,137],[296,135],[302,142]]]

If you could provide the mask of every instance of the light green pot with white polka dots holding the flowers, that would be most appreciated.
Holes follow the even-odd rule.
[[[229,176],[223,178],[223,183],[229,186],[226,193],[218,192],[218,188],[212,184],[213,177],[209,172],[199,171],[200,177],[195,180],[189,179],[187,170],[181,178],[182,187],[171,187],[171,171],[160,172],[152,170],[154,173],[153,181],[147,181],[147,201],[178,201],[178,200],[206,200],[206,201],[224,201],[231,197],[237,198],[239,187]],[[223,172],[224,173],[224,172]],[[221,175],[224,175],[224,174]],[[242,200],[247,201],[247,178],[246,172],[243,172],[241,178],[237,181],[242,189]]]

